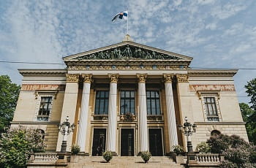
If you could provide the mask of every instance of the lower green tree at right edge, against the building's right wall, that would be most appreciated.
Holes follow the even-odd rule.
[[[245,103],[240,103],[239,106],[244,122],[246,122],[245,126],[249,141],[256,144],[256,111],[252,110],[252,108]]]

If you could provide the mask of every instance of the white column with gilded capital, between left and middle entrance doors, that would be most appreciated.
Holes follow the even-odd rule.
[[[116,153],[116,97],[118,75],[108,75],[110,78],[110,93],[108,102],[107,150]]]

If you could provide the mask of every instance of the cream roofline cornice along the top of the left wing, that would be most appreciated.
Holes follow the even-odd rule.
[[[23,76],[65,76],[67,69],[18,69],[18,72]]]

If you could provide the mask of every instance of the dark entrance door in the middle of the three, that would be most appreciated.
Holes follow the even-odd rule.
[[[121,129],[121,156],[134,156],[134,129]]]

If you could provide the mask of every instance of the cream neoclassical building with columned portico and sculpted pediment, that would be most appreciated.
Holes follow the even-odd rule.
[[[125,39],[63,58],[66,69],[19,69],[22,87],[12,127],[42,129],[48,151],[60,151],[58,124],[75,130],[67,150],[165,156],[186,147],[184,117],[197,125],[192,144],[215,134],[247,139],[233,76],[236,69],[191,69],[192,58]],[[203,64],[203,63],[202,63]]]

